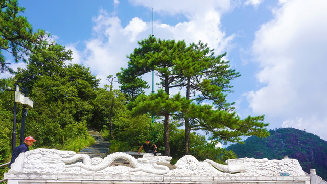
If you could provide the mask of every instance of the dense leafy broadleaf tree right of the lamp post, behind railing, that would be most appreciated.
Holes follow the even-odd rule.
[[[87,124],[92,120],[92,101],[99,80],[89,68],[79,64],[67,66],[71,55],[71,51],[53,44],[33,51],[26,69],[18,68],[16,79],[21,86],[28,87],[29,97],[34,100],[26,134],[38,140],[36,146],[76,151],[85,146],[81,140],[87,140],[86,145],[91,141]]]

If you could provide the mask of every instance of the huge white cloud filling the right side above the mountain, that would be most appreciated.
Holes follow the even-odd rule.
[[[327,128],[327,2],[279,4],[274,18],[255,33],[252,51],[262,87],[246,93],[250,108],[280,118],[284,127],[311,129],[326,138],[312,126]]]

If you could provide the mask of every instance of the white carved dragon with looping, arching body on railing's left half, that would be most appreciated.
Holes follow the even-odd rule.
[[[81,168],[83,173],[103,173],[110,174],[112,169],[110,164],[116,159],[127,160],[131,167],[118,167],[121,173],[142,171],[148,174],[166,174],[169,167],[160,164],[169,164],[171,157],[144,155],[143,158],[134,158],[133,156],[116,152],[102,158],[90,158],[86,154],[76,154],[73,151],[60,151],[55,149],[35,149],[28,151],[25,156],[23,172],[24,173],[79,173]],[[80,162],[82,160],[82,162]],[[15,165],[13,164],[13,168]],[[14,169],[12,169],[14,171]],[[115,172],[116,173],[116,172]],[[111,173],[112,174],[112,173]]]

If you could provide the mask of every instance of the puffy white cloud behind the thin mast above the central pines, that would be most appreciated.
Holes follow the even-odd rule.
[[[221,13],[230,9],[229,1],[208,1],[205,4],[198,1],[171,1],[170,3],[134,1],[133,3],[148,8],[160,7],[156,8],[156,13],[161,15],[182,13],[188,17],[188,21],[176,25],[167,25],[156,20],[154,30],[157,38],[184,39],[186,43],[197,43],[201,40],[215,49],[217,55],[224,53],[234,38],[234,35],[226,36],[220,30]],[[176,6],[172,6],[175,4]],[[126,55],[133,52],[138,40],[145,39],[152,33],[152,21],[146,22],[139,17],[134,17],[123,27],[119,17],[103,9],[93,21],[94,36],[85,42],[84,51],[76,52],[74,61],[90,67],[97,78],[102,79],[101,84],[105,84],[108,75],[115,75],[120,72],[121,67],[127,67]],[[74,50],[74,48],[70,49]],[[151,75],[144,77],[151,81]]]

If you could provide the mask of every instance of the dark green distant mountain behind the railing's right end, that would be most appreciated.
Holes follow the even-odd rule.
[[[244,144],[228,146],[238,158],[283,159],[284,156],[297,159],[302,169],[310,173],[316,169],[317,175],[327,180],[327,142],[319,136],[295,128],[270,130],[270,136],[260,139],[251,136]]]

